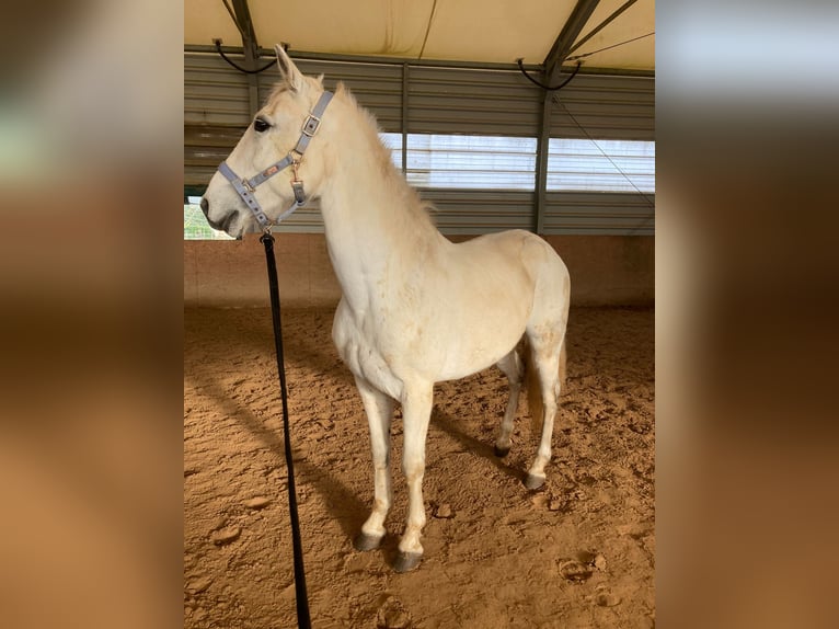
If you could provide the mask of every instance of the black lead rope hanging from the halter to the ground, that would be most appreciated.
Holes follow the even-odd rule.
[[[274,237],[266,231],[260,238],[265,245],[265,262],[268,266],[268,287],[271,289],[271,316],[274,321],[274,345],[277,353],[279,391],[283,399],[283,436],[288,468],[288,511],[291,516],[291,542],[295,554],[295,597],[297,599],[297,626],[310,629],[309,597],[306,593],[306,570],[303,569],[303,548],[300,541],[300,519],[297,516],[297,488],[295,485],[295,465],[291,457],[291,435],[288,427],[288,391],[286,389],[286,368],[283,355],[283,328],[279,319],[279,288],[277,287],[277,262],[274,259]]]

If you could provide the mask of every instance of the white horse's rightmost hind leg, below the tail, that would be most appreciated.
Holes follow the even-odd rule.
[[[564,327],[563,327],[564,328]],[[555,341],[556,334],[549,332],[547,334],[528,335],[531,352],[533,352],[533,364],[539,377],[539,385],[542,393],[542,434],[539,442],[533,465],[528,470],[525,479],[525,487],[533,490],[544,484],[544,468],[551,460],[551,438],[553,437],[553,421],[556,416],[560,400],[560,361],[562,353],[562,338],[564,330],[560,334],[560,342]]]

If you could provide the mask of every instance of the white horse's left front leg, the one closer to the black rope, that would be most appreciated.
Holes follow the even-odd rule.
[[[370,425],[370,446],[373,467],[373,505],[370,517],[361,526],[361,533],[353,541],[356,550],[372,550],[384,537],[384,518],[390,511],[393,490],[390,479],[390,421],[393,400],[356,377],[356,386]]]

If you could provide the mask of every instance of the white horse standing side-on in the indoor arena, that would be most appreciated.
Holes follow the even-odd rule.
[[[504,456],[525,371],[517,346],[526,347],[541,390],[539,403],[530,405],[531,413],[541,411],[535,418],[541,442],[525,484],[537,489],[544,482],[564,366],[568,272],[544,240],[527,231],[459,244],[447,240],[392,164],[372,116],[343,85],[329,102],[322,77],[304,77],[281,48],[276,52],[281,81],[230,153],[228,171],[210,181],[202,207],[211,225],[240,237],[254,229],[256,218],[263,227],[265,215],[276,220],[303,182],[304,194],[320,197],[343,291],[332,336],[355,376],[372,446],[375,501],[355,547],[377,548],[386,533],[390,424],[400,402],[409,515],[394,569],[403,572],[418,565],[423,553],[422,483],[435,382],[501,368],[510,385],[495,443],[496,455]],[[308,127],[302,135],[301,125]],[[250,175],[268,164],[274,165],[250,182],[233,174]],[[297,196],[299,203],[302,195]]]

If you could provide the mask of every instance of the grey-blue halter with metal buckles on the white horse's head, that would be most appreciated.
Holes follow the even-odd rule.
[[[292,211],[306,203],[303,182],[298,176],[297,169],[303,159],[306,149],[309,147],[309,141],[312,139],[312,137],[314,137],[314,134],[318,133],[318,128],[321,125],[321,117],[323,116],[323,112],[326,111],[326,105],[330,104],[331,100],[332,92],[323,92],[323,94],[321,94],[321,98],[314,105],[312,113],[309,114],[309,116],[306,118],[306,122],[303,122],[300,139],[297,140],[295,148],[292,148],[281,160],[273,163],[261,173],[255,174],[251,179],[244,179],[235,174],[233,170],[227,165],[227,161],[222,161],[219,164],[218,171],[223,174],[231,184],[233,184],[235,192],[249,207],[263,231],[268,231],[271,229],[272,222],[263,211],[262,206],[260,206],[260,202],[256,201],[256,197],[253,194],[256,190],[256,186],[265,183],[279,171],[291,167],[295,173],[294,179],[291,180],[291,188],[295,192],[295,203],[291,204],[291,207],[289,207],[286,211],[279,215],[279,217],[277,217],[277,224],[279,224],[279,221],[281,221],[284,218],[289,216]]]

